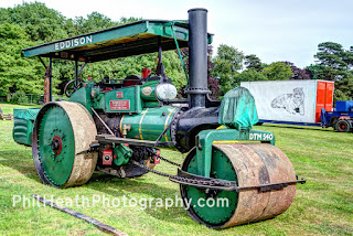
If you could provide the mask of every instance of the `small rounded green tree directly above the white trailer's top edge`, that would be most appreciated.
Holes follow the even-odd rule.
[[[293,75],[291,67],[284,62],[274,62],[264,68],[264,75],[268,81],[290,79]]]

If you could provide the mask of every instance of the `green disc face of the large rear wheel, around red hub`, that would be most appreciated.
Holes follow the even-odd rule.
[[[55,154],[52,140],[58,136],[62,151]],[[45,176],[56,186],[68,180],[75,159],[75,138],[72,124],[62,107],[54,106],[43,115],[39,128],[39,154]]]

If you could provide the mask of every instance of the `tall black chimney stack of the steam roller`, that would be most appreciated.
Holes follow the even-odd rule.
[[[207,89],[207,10],[190,9],[189,13],[189,77],[186,94],[190,108],[205,107]]]

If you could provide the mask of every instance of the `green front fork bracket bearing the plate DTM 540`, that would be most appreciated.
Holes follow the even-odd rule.
[[[199,173],[210,178],[212,163],[212,142],[214,141],[261,141],[275,146],[275,136],[271,132],[259,130],[216,129],[203,130],[196,136],[196,155]]]

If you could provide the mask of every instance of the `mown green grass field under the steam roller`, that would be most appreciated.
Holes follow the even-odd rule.
[[[0,104],[7,114],[15,106]],[[13,195],[53,195],[55,200],[84,195],[117,197],[172,197],[179,186],[152,173],[138,179],[119,180],[94,173],[79,187],[54,189],[41,183],[32,161],[31,148],[12,140],[13,121],[0,120],[0,235],[103,235],[93,225],[49,206],[13,206]],[[291,160],[297,174],[308,180],[298,185],[289,210],[265,222],[213,230],[195,223],[182,207],[136,206],[103,207],[101,204],[71,208],[116,227],[129,235],[353,235],[353,133],[332,129],[285,126],[256,126],[271,131]],[[162,151],[163,157],[182,162],[182,155]],[[169,164],[157,170],[174,173]],[[33,202],[35,203],[35,202]],[[67,203],[66,201],[63,205]],[[34,206],[33,206],[34,205]]]

